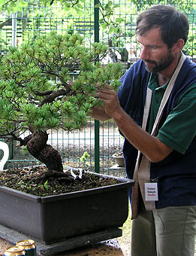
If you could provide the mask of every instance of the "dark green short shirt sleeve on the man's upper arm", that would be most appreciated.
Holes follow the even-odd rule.
[[[173,150],[185,154],[194,136],[196,136],[196,84],[191,85],[179,97],[176,107],[158,131],[157,138]]]

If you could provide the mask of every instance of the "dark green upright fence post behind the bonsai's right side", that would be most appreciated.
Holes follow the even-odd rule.
[[[98,0],[94,0],[94,5],[98,4]],[[95,42],[99,41],[99,8],[94,6],[94,34]],[[100,147],[99,147],[99,121],[95,120],[95,172],[100,169]]]

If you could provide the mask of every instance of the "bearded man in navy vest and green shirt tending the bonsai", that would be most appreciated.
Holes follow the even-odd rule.
[[[182,53],[185,14],[155,5],[137,18],[140,60],[116,94],[105,85],[92,109],[125,137],[131,199],[131,256],[194,256],[196,233],[196,65]]]

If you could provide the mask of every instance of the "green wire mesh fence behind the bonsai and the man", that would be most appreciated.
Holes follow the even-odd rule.
[[[95,8],[98,4],[99,8]],[[39,1],[29,0],[28,5],[21,11],[0,14],[0,52],[4,54],[11,45],[19,46],[24,41],[51,30],[59,33],[78,32],[84,35],[89,45],[94,41],[104,41],[110,47],[110,54],[104,62],[123,62],[126,70],[140,58],[140,48],[134,35],[137,14],[155,4],[177,5],[188,16],[190,32],[184,50],[195,60],[196,0],[89,0],[81,2],[78,9],[65,8],[62,2],[43,7],[39,5]],[[110,6],[113,8],[109,12]],[[117,22],[120,23],[118,27]],[[83,131],[67,134],[62,130],[50,130],[49,143],[61,152],[65,165],[83,165],[80,157],[87,151],[90,156],[88,164],[92,170],[125,176],[124,169],[113,167],[115,163],[112,155],[121,150],[123,145],[116,124],[113,121],[98,122],[90,117],[86,118],[88,125]],[[11,157],[8,167],[38,164],[27,152],[15,146],[10,144]]]

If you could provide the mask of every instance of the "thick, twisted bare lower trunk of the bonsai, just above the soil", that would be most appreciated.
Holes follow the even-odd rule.
[[[47,166],[47,169],[63,172],[62,158],[56,149],[47,144],[48,134],[38,130],[23,140],[23,145],[33,157]]]

